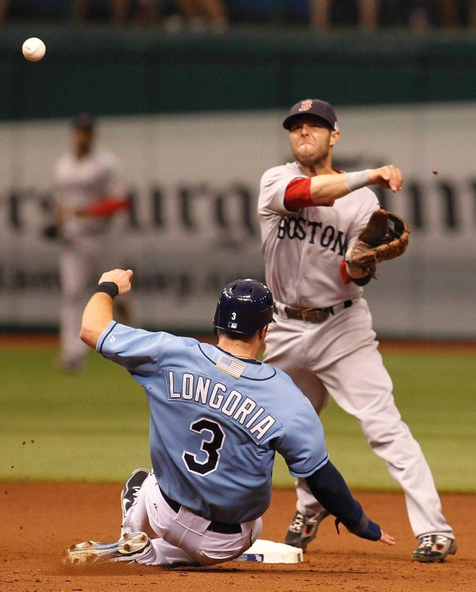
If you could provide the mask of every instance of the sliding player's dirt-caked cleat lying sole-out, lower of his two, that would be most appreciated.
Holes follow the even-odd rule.
[[[78,545],[71,545],[67,550],[67,559],[71,563],[96,563],[104,561],[135,561],[147,552],[152,543],[144,532],[124,535],[115,543],[98,543],[85,540]]]

